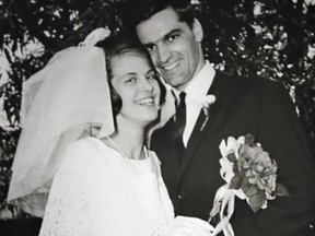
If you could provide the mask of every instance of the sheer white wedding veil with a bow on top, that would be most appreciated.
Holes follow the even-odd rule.
[[[23,85],[21,125],[8,202],[43,216],[51,179],[65,149],[91,127],[114,132],[105,54],[94,45],[109,35],[97,28],[78,47],[56,54]]]

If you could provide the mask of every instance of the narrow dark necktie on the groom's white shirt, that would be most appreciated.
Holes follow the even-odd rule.
[[[185,103],[186,93],[182,92],[179,94],[179,104],[176,108],[175,115],[175,128],[174,128],[174,149],[178,157],[179,163],[183,160],[185,145],[183,142],[183,133],[186,126],[186,103]]]

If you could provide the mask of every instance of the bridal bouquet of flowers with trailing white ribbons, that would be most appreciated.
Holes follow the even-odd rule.
[[[252,134],[237,140],[229,137],[226,142],[222,140],[219,149],[222,155],[220,175],[226,184],[217,191],[209,223],[219,214],[220,222],[213,235],[223,231],[230,236],[234,235],[230,219],[234,212],[235,196],[246,200],[256,213],[267,208],[268,200],[289,193],[284,186],[277,182],[276,161],[255,142]]]

